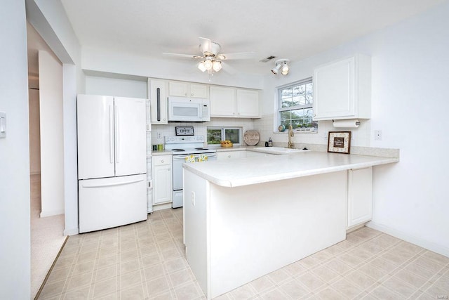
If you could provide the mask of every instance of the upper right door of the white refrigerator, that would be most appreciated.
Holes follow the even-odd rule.
[[[114,98],[115,175],[147,172],[145,99]]]

